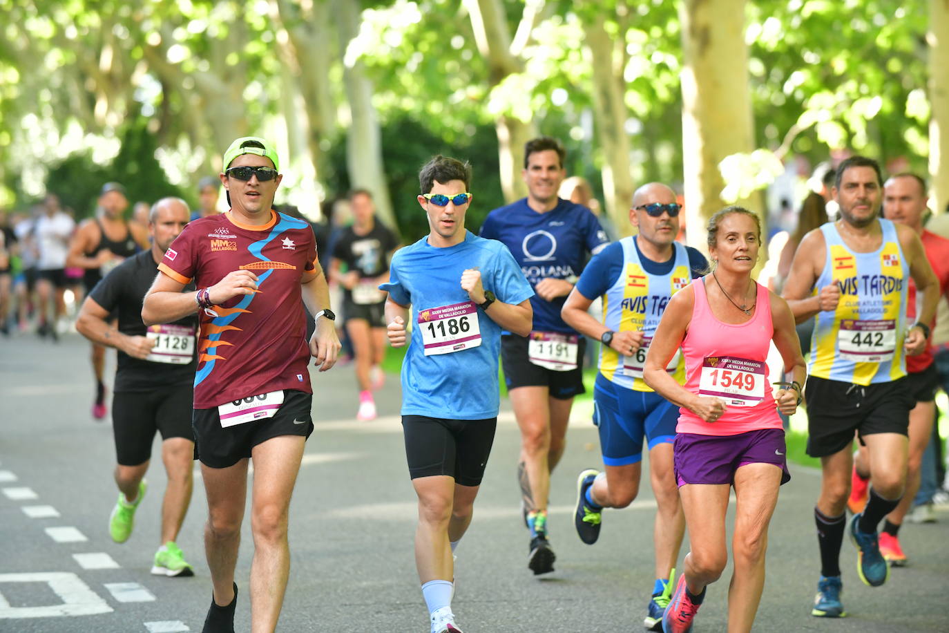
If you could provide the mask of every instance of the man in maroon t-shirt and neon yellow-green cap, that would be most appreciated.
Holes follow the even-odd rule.
[[[290,495],[313,430],[307,364],[336,363],[340,343],[309,224],[272,211],[283,178],[266,140],[234,140],[221,182],[231,210],[191,222],[158,264],[145,324],[195,311],[195,452],[208,497],[205,549],[214,583],[206,633],[233,632],[233,582],[253,459],[251,628],[272,631],[289,575]],[[194,279],[197,291],[183,293]],[[301,300],[316,319],[307,348]],[[321,318],[326,317],[326,318]]]

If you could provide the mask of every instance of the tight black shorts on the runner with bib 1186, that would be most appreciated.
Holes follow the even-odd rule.
[[[402,416],[409,475],[449,475],[461,486],[481,485],[496,427],[497,418]]]

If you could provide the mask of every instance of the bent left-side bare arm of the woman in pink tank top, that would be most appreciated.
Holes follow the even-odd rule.
[[[665,370],[685,338],[694,305],[695,290],[691,287],[680,290],[669,300],[646,353],[642,380],[662,398],[689,409],[705,421],[713,421],[724,413],[725,403],[717,398],[699,397],[679,384]]]

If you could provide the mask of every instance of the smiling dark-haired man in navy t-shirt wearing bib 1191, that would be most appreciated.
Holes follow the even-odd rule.
[[[533,326],[524,338],[505,332],[501,363],[514,417],[521,429],[517,478],[521,508],[530,530],[528,568],[553,571],[547,531],[550,473],[564,454],[573,397],[584,393],[586,340],[560,318],[560,308],[584,268],[587,253],[608,243],[596,216],[557,196],[567,173],[559,140],[540,137],[524,147],[528,196],[495,209],[481,237],[504,242],[536,295]]]

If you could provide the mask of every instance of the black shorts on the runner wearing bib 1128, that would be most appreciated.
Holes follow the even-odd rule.
[[[151,391],[120,391],[112,396],[112,434],[122,466],[138,466],[152,456],[155,432],[162,439],[195,440],[191,412],[195,388],[190,382]]]

